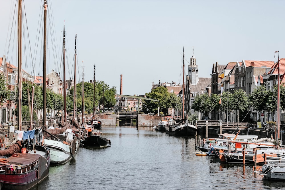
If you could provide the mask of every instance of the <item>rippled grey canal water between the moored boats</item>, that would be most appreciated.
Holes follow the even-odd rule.
[[[133,127],[101,131],[111,147],[80,148],[70,162],[50,167],[32,189],[285,189],[284,182],[262,180],[253,166],[196,156],[195,138]]]

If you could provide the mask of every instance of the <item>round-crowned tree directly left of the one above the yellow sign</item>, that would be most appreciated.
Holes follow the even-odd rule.
[[[233,95],[231,95],[231,99],[229,99],[230,109],[237,111],[238,122],[240,112],[245,111],[248,105],[247,93],[242,89],[235,90]]]

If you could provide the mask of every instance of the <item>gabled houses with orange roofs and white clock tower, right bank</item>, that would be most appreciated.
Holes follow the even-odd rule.
[[[280,78],[281,83],[285,82],[285,58],[279,60],[280,63]],[[190,64],[188,65],[187,82],[189,84],[191,104],[197,95],[207,93],[209,96],[212,94],[221,94],[221,86],[223,91],[233,93],[234,90],[242,89],[250,95],[257,86],[264,85],[267,90],[270,90],[277,84],[278,78],[278,63],[274,61],[256,61],[256,60],[242,60],[241,62],[228,62],[225,65],[219,65],[218,62],[212,66],[211,77],[198,77],[198,65],[196,64],[196,58],[194,52],[190,58]],[[172,82],[173,83],[173,82]],[[168,83],[152,84],[152,89],[158,86],[165,86],[168,92],[172,91],[171,85]],[[176,89],[178,96],[182,97],[182,87]],[[191,105],[190,104],[190,105]],[[250,110],[248,120],[256,121],[258,119],[261,122],[274,120],[274,114],[266,110],[258,113],[255,110]],[[191,110],[194,113],[194,110]],[[225,115],[229,114],[227,117]],[[264,115],[260,117],[260,115]],[[198,113],[199,119],[203,117],[202,113]],[[223,122],[229,120],[229,122],[237,122],[237,114],[234,111],[227,113],[209,113],[209,118],[212,120],[220,120]],[[226,119],[225,119],[226,118]]]

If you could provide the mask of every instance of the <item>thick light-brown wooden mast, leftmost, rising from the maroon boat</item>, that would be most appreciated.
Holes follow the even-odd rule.
[[[22,130],[22,0],[18,3],[18,130]]]

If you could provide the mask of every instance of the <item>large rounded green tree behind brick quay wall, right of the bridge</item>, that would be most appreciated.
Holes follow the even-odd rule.
[[[167,91],[167,88],[160,86],[155,89],[152,89],[151,92],[145,94],[146,97],[151,99],[156,99],[158,101],[144,100],[146,106],[152,113],[157,113],[158,107],[159,110],[163,113],[168,113],[168,108],[171,107],[170,93]]]

